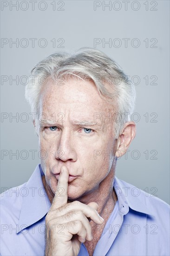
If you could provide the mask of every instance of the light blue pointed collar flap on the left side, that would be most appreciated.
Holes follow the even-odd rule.
[[[43,218],[51,207],[51,202],[46,194],[42,182],[44,175],[39,165],[35,168],[28,182],[19,188],[20,195],[23,196],[22,207],[19,218],[19,233],[22,229],[32,225]],[[25,190],[25,191],[24,191]]]

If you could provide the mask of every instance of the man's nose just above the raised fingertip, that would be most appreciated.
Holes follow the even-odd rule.
[[[77,153],[75,148],[75,140],[71,131],[68,128],[64,128],[57,142],[57,154],[56,159],[62,160],[63,162],[77,160]]]

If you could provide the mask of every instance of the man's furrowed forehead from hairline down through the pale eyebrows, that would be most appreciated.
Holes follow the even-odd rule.
[[[48,124],[97,125],[103,129],[113,125],[114,106],[102,99],[92,81],[70,79],[53,84],[48,81],[42,88],[39,101],[39,121]]]

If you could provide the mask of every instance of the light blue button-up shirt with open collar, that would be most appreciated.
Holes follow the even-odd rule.
[[[28,182],[1,194],[1,256],[44,255],[45,218],[51,203],[42,175],[38,165]],[[170,256],[169,205],[118,178],[113,186],[118,201],[93,255]],[[78,256],[87,255],[82,243]]]

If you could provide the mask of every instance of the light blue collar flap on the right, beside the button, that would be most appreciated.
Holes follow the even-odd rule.
[[[154,213],[148,209],[145,201],[144,192],[131,184],[119,180],[117,177],[114,179],[113,187],[118,196],[119,210],[123,215],[127,214],[129,208],[137,212],[154,216]]]

